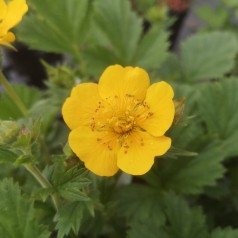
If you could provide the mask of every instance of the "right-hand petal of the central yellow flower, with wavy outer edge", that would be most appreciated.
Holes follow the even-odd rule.
[[[174,119],[173,96],[173,89],[168,83],[162,81],[152,84],[147,90],[145,99],[151,116],[138,121],[140,127],[153,136],[164,135]]]

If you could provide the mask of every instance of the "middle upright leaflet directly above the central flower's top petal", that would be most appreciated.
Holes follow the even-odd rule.
[[[142,33],[142,20],[131,11],[128,0],[97,0],[94,8],[98,44],[128,64]]]

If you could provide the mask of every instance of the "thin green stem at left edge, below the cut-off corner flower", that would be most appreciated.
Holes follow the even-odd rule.
[[[8,93],[9,97],[12,99],[12,101],[16,104],[20,112],[24,117],[28,115],[28,110],[25,107],[22,100],[18,97],[16,92],[13,90],[12,86],[8,83],[5,76],[0,72],[0,84],[5,88],[6,92]]]

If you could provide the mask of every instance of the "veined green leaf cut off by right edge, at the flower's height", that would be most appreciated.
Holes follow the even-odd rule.
[[[217,136],[227,156],[237,156],[238,147],[238,78],[227,78],[204,85],[200,92],[199,114],[208,133]]]

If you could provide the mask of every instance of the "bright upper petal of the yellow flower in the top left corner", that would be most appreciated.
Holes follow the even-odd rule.
[[[28,11],[28,6],[25,0],[12,0],[7,4],[7,12],[5,18],[0,24],[0,32],[7,33],[9,29],[17,25],[23,15]]]

